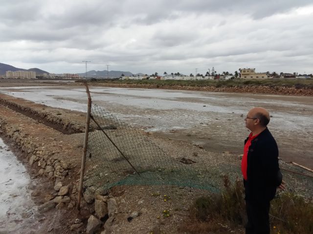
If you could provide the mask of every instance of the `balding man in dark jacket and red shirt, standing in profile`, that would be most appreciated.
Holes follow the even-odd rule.
[[[251,109],[246,118],[251,133],[245,140],[242,173],[245,185],[246,234],[269,234],[269,203],[276,188],[284,189],[279,170],[278,147],[268,131],[269,113],[264,108]]]

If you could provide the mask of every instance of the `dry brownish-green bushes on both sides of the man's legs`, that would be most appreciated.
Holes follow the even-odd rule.
[[[312,234],[313,201],[301,195],[280,193],[271,201],[270,227],[273,234]],[[190,217],[180,227],[189,234],[244,233],[246,206],[241,180],[230,184],[224,177],[221,194],[198,198]]]

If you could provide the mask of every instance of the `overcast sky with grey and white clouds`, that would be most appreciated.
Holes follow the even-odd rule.
[[[312,0],[0,0],[0,62],[50,73],[313,73]]]

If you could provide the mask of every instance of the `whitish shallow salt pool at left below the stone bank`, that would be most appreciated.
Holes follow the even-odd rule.
[[[19,233],[33,221],[37,207],[27,191],[30,183],[24,165],[0,138],[0,234]]]

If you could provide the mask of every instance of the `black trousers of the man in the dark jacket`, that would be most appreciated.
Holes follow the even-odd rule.
[[[269,234],[269,201],[246,201],[246,234]]]

